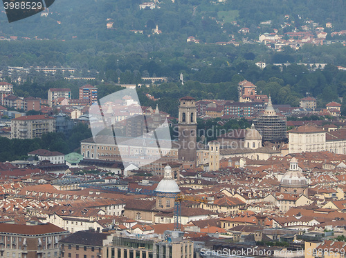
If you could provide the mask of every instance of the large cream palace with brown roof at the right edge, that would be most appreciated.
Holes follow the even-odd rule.
[[[289,130],[289,153],[320,151],[346,154],[346,128],[326,132],[307,124]]]

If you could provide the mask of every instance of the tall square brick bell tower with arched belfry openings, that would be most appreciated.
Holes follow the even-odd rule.
[[[179,159],[197,159],[197,107],[192,97],[179,99]]]

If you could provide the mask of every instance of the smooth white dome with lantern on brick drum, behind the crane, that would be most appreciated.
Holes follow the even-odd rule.
[[[174,207],[174,198],[167,197],[167,194],[178,194],[180,189],[172,177],[170,166],[165,166],[165,177],[158,183],[155,191],[157,192],[156,209],[167,210]]]

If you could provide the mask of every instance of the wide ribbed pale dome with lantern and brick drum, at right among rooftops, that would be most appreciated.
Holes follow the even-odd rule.
[[[307,196],[307,188],[307,179],[300,172],[297,159],[293,157],[289,163],[289,170],[280,181],[280,192]]]

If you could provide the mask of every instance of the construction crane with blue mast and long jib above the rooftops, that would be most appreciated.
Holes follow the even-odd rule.
[[[154,197],[167,197],[174,198],[174,230],[179,231],[181,229],[181,201],[197,201],[200,203],[208,203],[207,199],[193,197],[189,195],[182,195],[180,193],[170,193],[170,192],[156,192],[155,190],[147,189],[131,189],[121,190],[119,188],[104,188],[99,185],[90,185],[90,184],[81,184],[82,188],[92,188],[96,190],[107,190],[111,192],[120,192],[124,194],[133,194],[133,195],[150,195]]]

